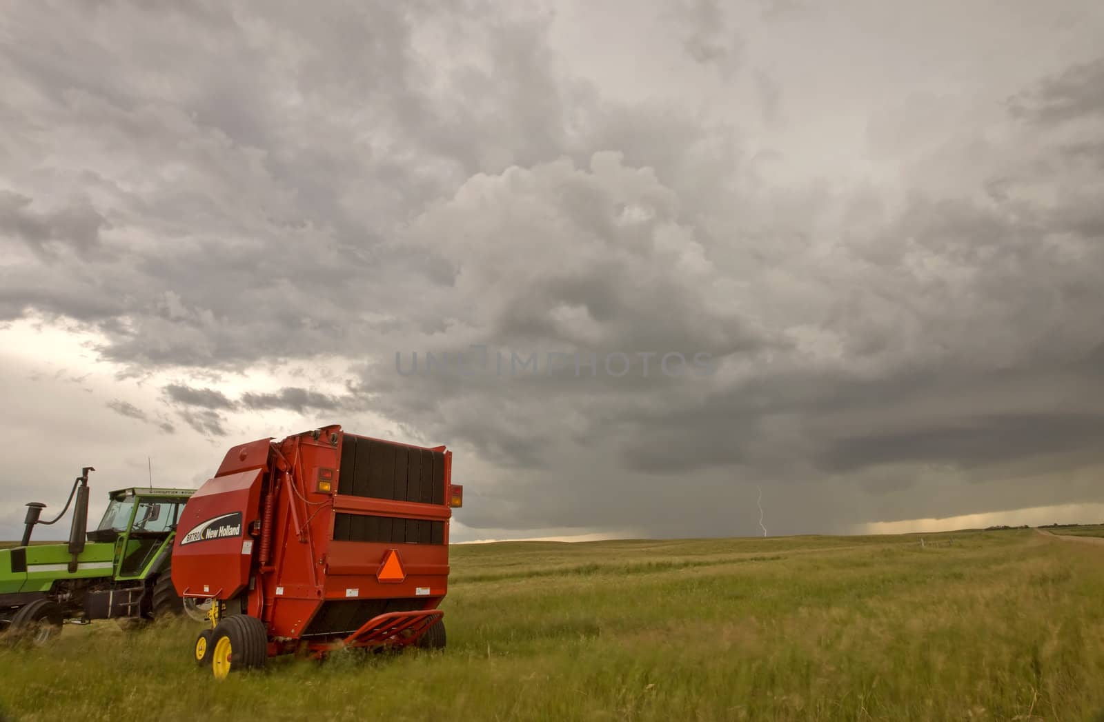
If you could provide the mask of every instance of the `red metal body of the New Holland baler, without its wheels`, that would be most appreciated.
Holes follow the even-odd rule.
[[[404,646],[444,614],[437,606],[449,572],[452,452],[444,446],[428,449],[444,454],[445,487],[444,502],[429,505],[338,493],[343,443],[341,426],[332,425],[280,442],[235,446],[178,523],[172,556],[177,590],[222,602],[244,599],[243,610],[268,629],[269,654],[291,651],[304,643],[319,654],[341,646]],[[329,492],[318,491],[319,469],[332,470]],[[234,512],[242,513],[240,535],[181,544],[205,520]],[[339,512],[443,521],[443,543],[336,541]],[[376,578],[389,550],[399,553],[402,581]],[[352,634],[302,638],[325,603],[353,598],[407,598],[415,608],[373,617]]]

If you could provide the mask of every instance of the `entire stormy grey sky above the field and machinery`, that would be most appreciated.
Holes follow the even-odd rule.
[[[9,3],[0,538],[82,466],[96,516],[329,423],[448,445],[457,540],[758,534],[760,490],[771,533],[1102,521],[1102,36],[1091,0]]]

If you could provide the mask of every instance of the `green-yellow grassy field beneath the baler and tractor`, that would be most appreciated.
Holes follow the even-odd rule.
[[[953,542],[951,539],[953,538]],[[187,625],[0,650],[12,720],[1104,720],[1104,550],[1034,530],[453,550],[444,654],[222,682]]]

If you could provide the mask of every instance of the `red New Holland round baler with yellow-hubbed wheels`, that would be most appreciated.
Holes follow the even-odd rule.
[[[339,425],[227,452],[177,524],[172,582],[210,601],[197,663],[445,646],[452,452]]]

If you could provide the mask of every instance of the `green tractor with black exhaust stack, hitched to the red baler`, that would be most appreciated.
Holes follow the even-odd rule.
[[[99,525],[86,531],[88,473],[73,482],[65,508],[40,521],[43,503],[26,505],[19,546],[0,549],[0,635],[6,640],[46,644],[62,624],[117,619],[127,627],[155,617],[205,612],[172,586],[172,540],[191,489],[130,488],[112,491]],[[68,542],[31,544],[35,524],[56,523],[74,500]]]

